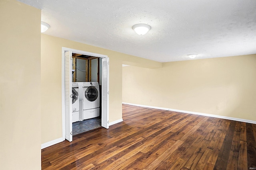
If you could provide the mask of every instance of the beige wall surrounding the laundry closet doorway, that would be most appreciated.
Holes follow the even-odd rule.
[[[108,55],[110,58],[109,121],[122,119],[122,64],[156,68],[162,63],[141,59],[50,35],[41,36],[42,143],[62,137],[62,47]],[[110,127],[111,128],[111,127]]]

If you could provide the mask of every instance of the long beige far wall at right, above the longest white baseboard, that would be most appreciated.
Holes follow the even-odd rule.
[[[126,66],[122,75],[123,102],[256,121],[256,55]]]

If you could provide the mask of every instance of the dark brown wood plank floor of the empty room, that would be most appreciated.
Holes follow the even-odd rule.
[[[124,121],[42,149],[47,170],[249,170],[256,125],[123,105]]]

